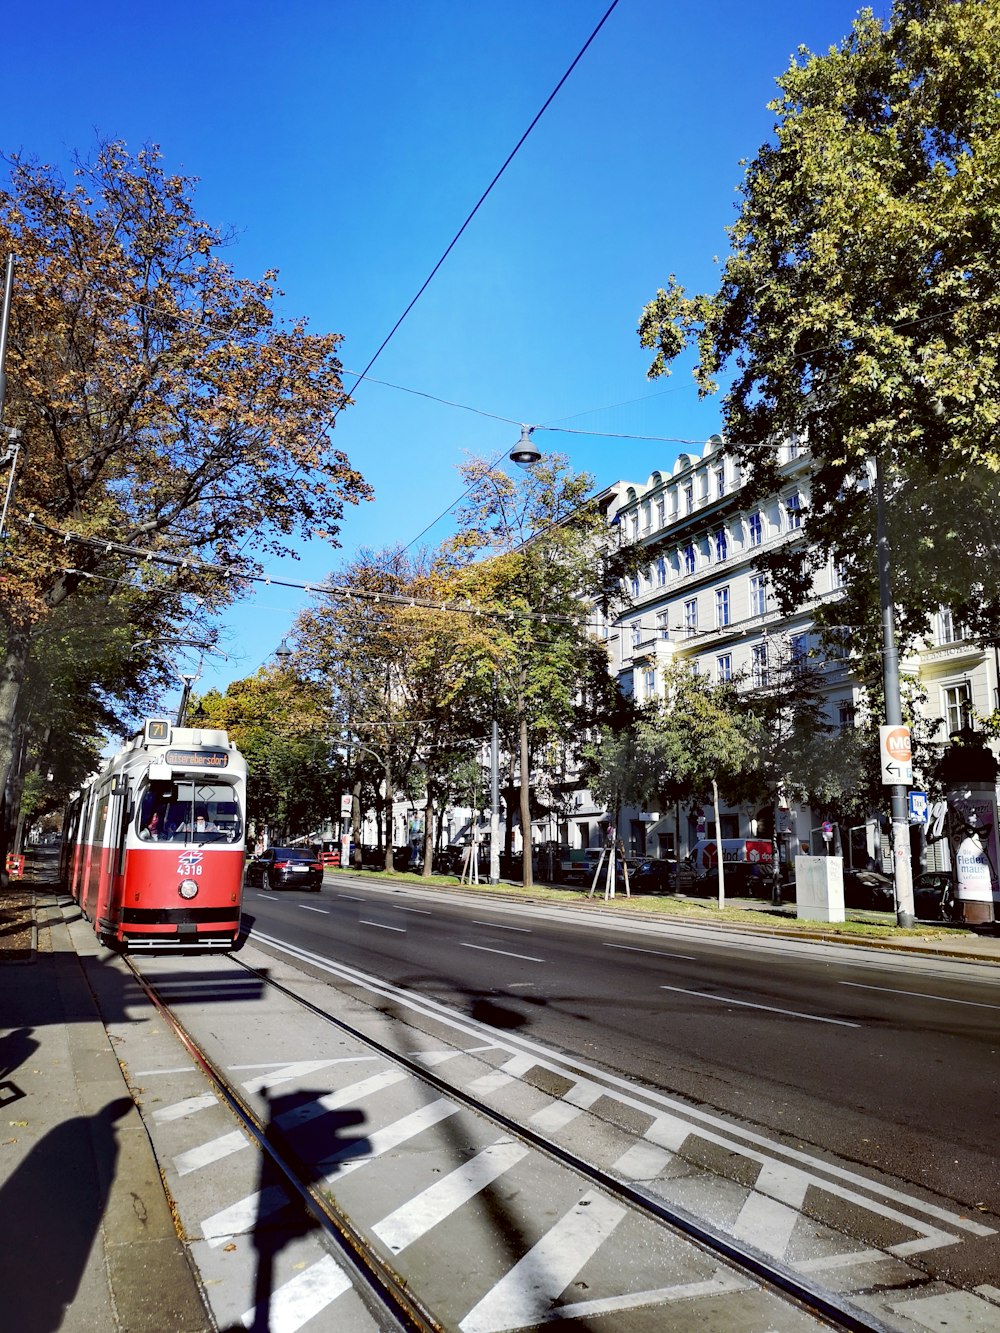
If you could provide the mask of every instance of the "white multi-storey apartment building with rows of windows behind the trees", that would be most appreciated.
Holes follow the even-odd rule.
[[[781,665],[808,655],[823,673],[829,721],[851,726],[859,685],[840,660],[816,656],[819,636],[812,631],[816,607],[837,599],[837,569],[832,563],[821,568],[811,603],[785,616],[756,564],[776,545],[801,540],[809,503],[808,451],[795,441],[784,445],[780,489],[763,503],[748,504],[740,471],[721,445],[721,437],[713,436],[699,455],[681,453],[671,472],[653,472],[643,485],[620,481],[608,488],[612,540],[652,548],[649,563],[640,564],[629,580],[625,609],[600,627],[609,669],[621,689],[641,702],[663,694],[664,668],[676,661],[713,681],[740,677],[767,686]],[[929,619],[927,641],[905,657],[901,669],[919,677],[927,714],[941,720],[937,734],[944,745],[948,733],[997,706],[1000,655],[968,641],[947,609]],[[599,844],[605,812],[585,790],[573,801],[567,840],[575,846]],[[724,809],[720,836],[751,836],[757,813]],[[705,814],[711,829],[712,814]],[[791,801],[780,814],[787,849],[793,852],[796,844],[815,849],[817,829],[808,806]],[[696,820],[687,810],[680,818],[673,810],[627,810],[619,832],[628,852],[652,856],[684,856],[697,836]],[[867,841],[875,850],[875,825]]]

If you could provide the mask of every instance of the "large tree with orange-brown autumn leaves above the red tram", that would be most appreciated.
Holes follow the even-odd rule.
[[[333,541],[344,504],[371,495],[331,444],[348,401],[340,335],[275,317],[276,275],[235,275],[192,179],[120,143],[69,180],[20,156],[7,167],[4,425],[24,448],[0,557],[0,790],[35,636],[87,580],[179,625],[237,596],[264,555],[317,531]]]

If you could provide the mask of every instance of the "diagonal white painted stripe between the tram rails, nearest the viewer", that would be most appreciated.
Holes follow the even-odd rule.
[[[541,1322],[552,1302],[600,1249],[625,1209],[588,1190],[469,1310],[463,1333],[500,1333]]]

